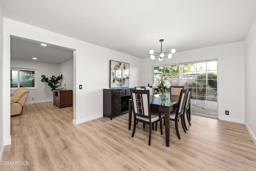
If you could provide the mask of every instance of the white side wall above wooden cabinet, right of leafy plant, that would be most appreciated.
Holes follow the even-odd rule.
[[[63,87],[66,84],[66,89],[73,90],[74,84],[74,73],[73,73],[73,58],[62,62],[60,64],[60,74],[62,74],[63,78],[61,80],[61,86]]]

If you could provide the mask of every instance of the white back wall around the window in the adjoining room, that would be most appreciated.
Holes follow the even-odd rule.
[[[24,68],[24,69],[36,69],[36,84],[37,89],[30,89],[26,104],[28,103],[39,103],[45,101],[52,101],[53,95],[51,87],[46,82],[41,82],[42,75],[50,78],[53,75],[60,75],[59,64],[49,64],[42,62],[22,61],[22,60],[11,60],[11,68]],[[34,100],[32,99],[34,98]]]

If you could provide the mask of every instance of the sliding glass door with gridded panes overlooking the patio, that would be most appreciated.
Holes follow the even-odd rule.
[[[168,76],[172,85],[194,88],[192,113],[218,117],[217,60],[154,67],[154,78],[162,76]]]

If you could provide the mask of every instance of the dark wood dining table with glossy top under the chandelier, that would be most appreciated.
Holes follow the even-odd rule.
[[[150,96],[150,109],[152,111],[164,112],[164,122],[165,122],[165,137],[166,137],[166,146],[170,145],[170,112],[174,110],[179,101],[179,95],[170,95],[167,94],[165,99],[160,99],[159,94]],[[129,100],[129,125],[128,129],[131,129],[132,123],[132,101]]]

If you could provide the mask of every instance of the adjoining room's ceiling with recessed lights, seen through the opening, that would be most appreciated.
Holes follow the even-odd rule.
[[[11,36],[11,59],[61,64],[73,58],[73,51],[60,46]],[[36,60],[32,58],[37,58]]]

